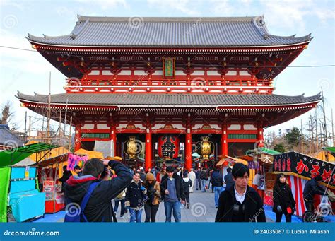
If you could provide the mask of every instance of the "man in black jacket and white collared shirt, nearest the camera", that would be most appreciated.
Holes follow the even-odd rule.
[[[236,163],[232,171],[235,186],[221,193],[218,200],[216,222],[265,222],[263,201],[248,186],[249,168]]]

